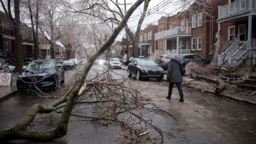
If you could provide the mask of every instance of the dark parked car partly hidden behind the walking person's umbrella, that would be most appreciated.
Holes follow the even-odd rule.
[[[170,55],[172,54],[165,54],[160,55],[157,57],[157,64],[162,67],[164,70],[167,70],[168,64],[170,62]],[[196,54],[174,54],[179,58],[180,64],[184,68],[189,62],[193,61],[196,63],[203,63],[203,64],[209,64],[211,63],[211,60],[204,58],[202,56],[198,56]]]

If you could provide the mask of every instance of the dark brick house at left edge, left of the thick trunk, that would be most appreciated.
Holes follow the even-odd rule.
[[[0,11],[0,52],[15,52],[15,37],[4,12]]]

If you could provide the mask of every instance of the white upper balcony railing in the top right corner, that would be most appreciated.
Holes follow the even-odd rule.
[[[219,6],[219,19],[232,17],[244,12],[256,10],[255,0],[239,0],[234,3]]]

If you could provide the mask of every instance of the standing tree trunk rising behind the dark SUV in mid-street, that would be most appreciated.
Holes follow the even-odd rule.
[[[134,40],[132,42],[132,47],[133,47],[133,57],[138,58],[139,57],[139,40],[140,40],[140,29],[141,29],[141,24],[143,23],[143,20],[145,19],[147,9],[148,9],[148,4],[150,0],[144,0],[144,8],[143,8],[143,13],[140,17],[140,20],[138,22],[137,30],[134,36]]]

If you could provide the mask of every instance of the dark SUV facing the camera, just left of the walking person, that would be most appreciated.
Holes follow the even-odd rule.
[[[163,68],[157,66],[154,61],[145,58],[134,58],[129,63],[127,72],[129,77],[133,74],[138,80],[155,78],[160,81],[164,77]]]

